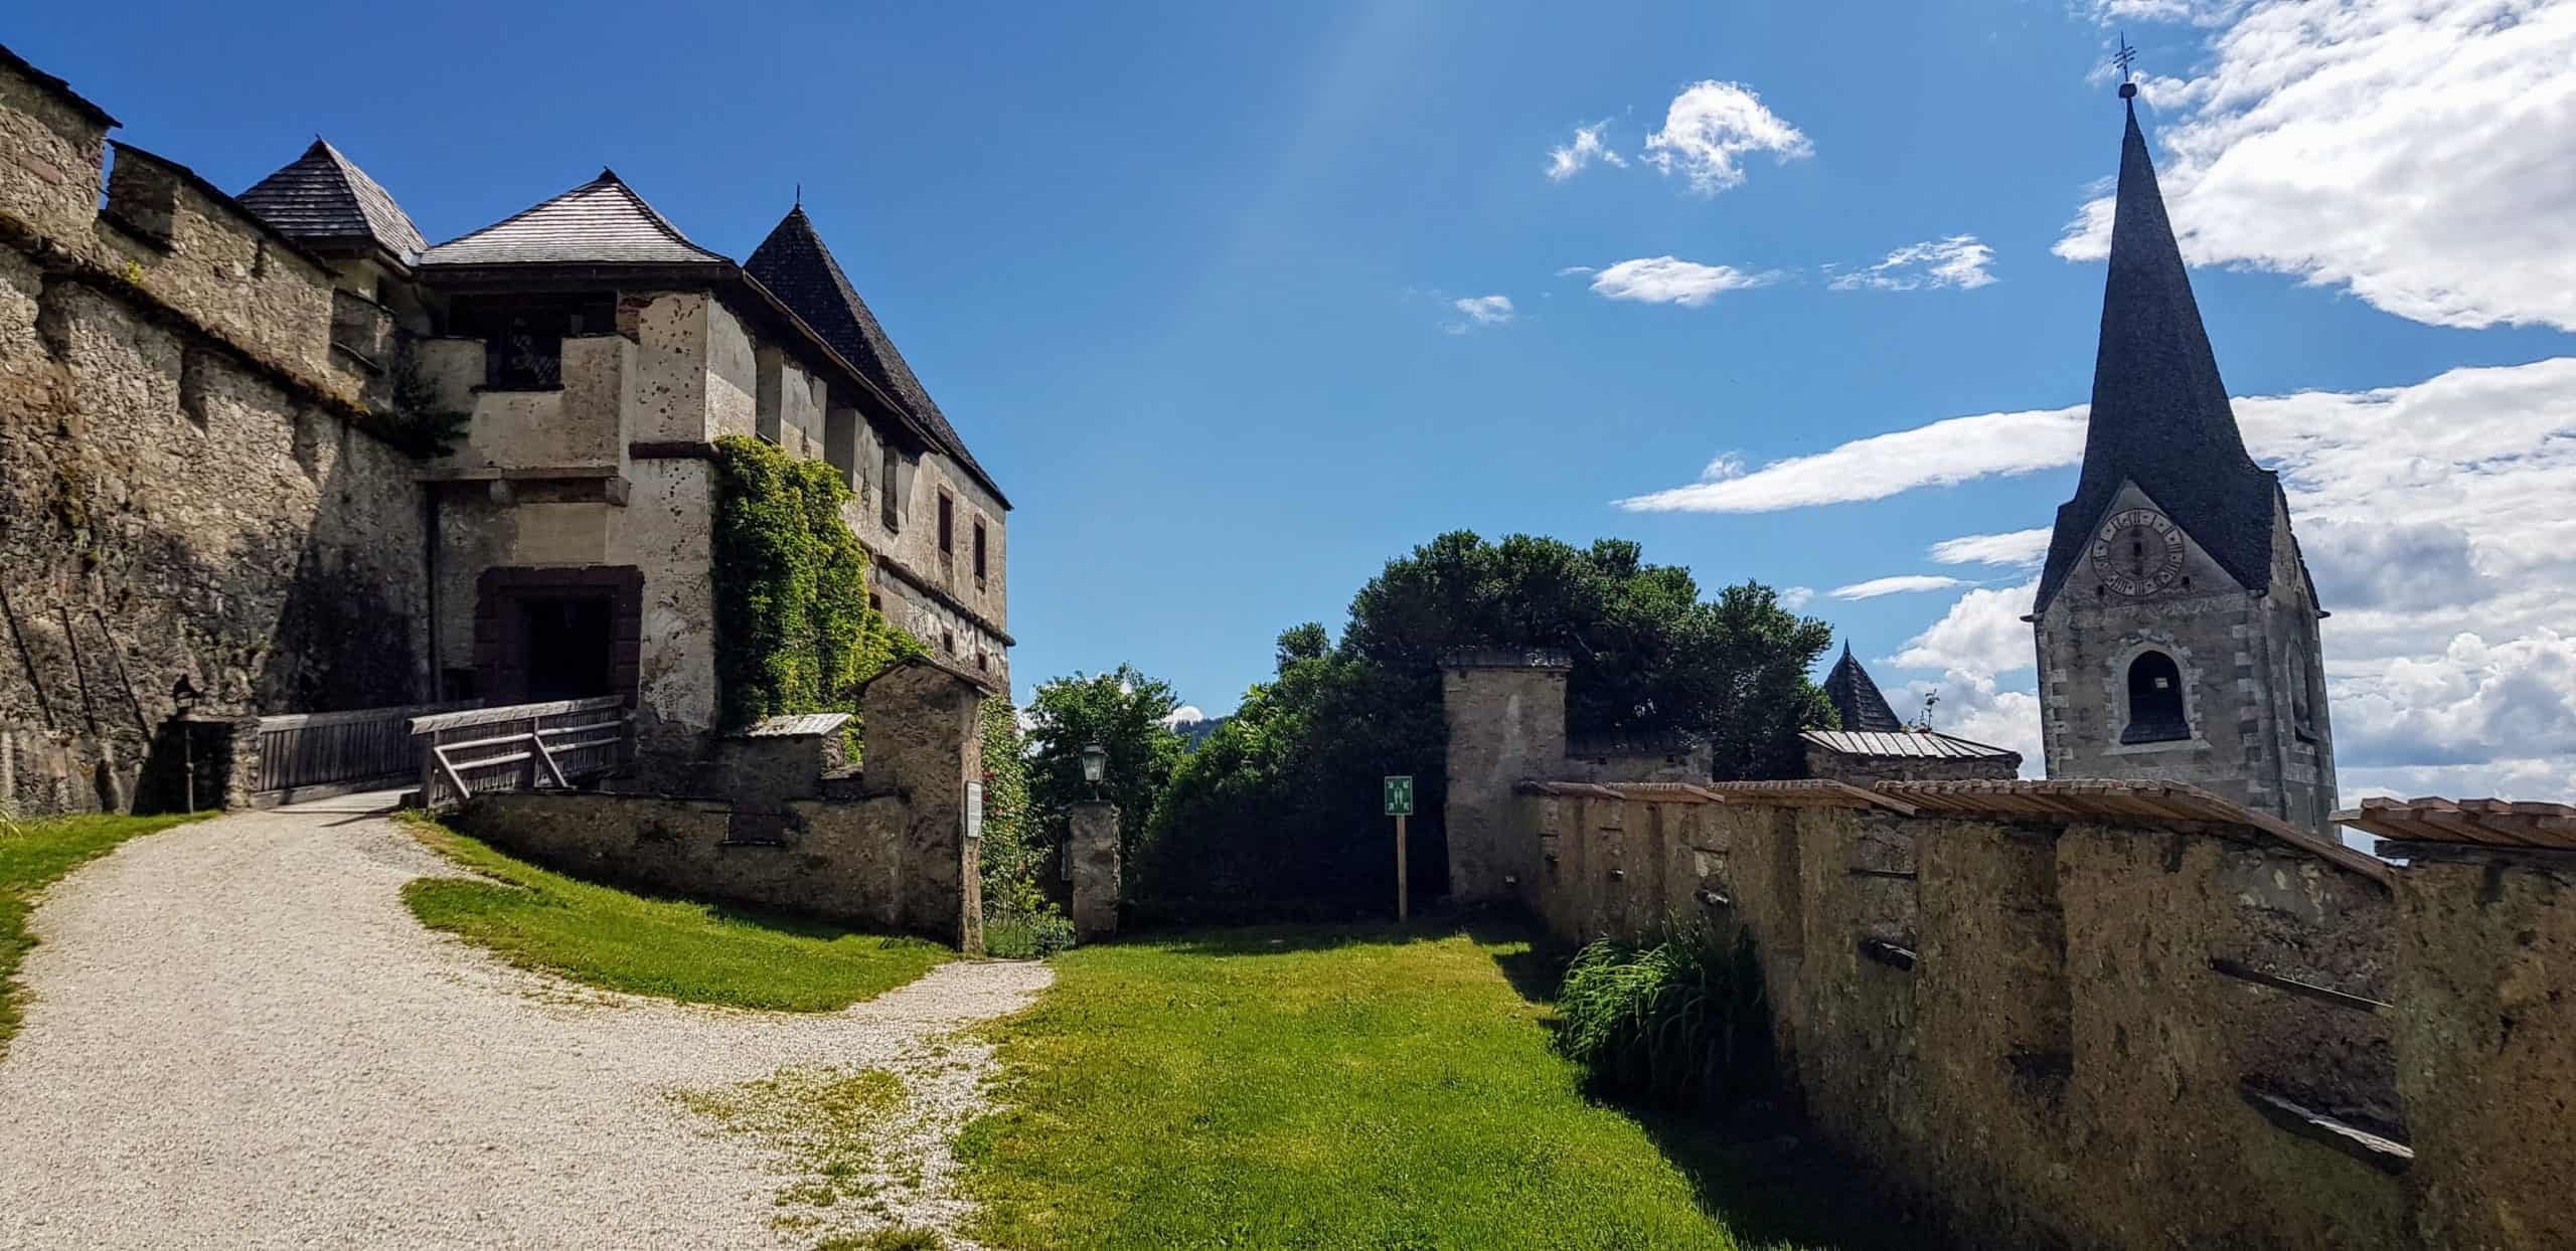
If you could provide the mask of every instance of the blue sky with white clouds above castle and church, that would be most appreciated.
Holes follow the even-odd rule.
[[[2553,556],[2576,535],[2540,505],[2576,484],[2576,378],[2548,368],[2576,358],[2576,227],[2548,221],[2576,219],[2566,0],[2357,0],[2336,23],[2058,0],[453,5],[404,26],[44,5],[5,39],[224,188],[319,131],[433,242],[613,165],[742,257],[801,183],[1018,505],[1023,698],[1136,662],[1226,710],[1280,628],[1337,626],[1388,556],[1530,530],[1636,538],[1705,587],[1806,587],[1896,703],[1940,685],[1953,726],[2017,746],[2030,574],[1929,548],[2048,525],[2074,463],[2017,463],[2025,427],[1991,420],[1862,440],[2081,420],[2102,270],[2079,214],[2117,165],[2102,62],[2125,31],[2231,391],[2316,391],[2239,412],[2257,456],[2295,458],[2300,535],[2354,618],[2326,636],[2347,793],[2566,798],[2576,772],[2576,613],[2550,595],[2576,584]],[[1592,160],[1551,178],[1579,131]],[[1958,237],[1950,281],[1868,270]],[[1656,257],[1687,265],[1618,268]],[[1749,286],[1672,301],[1674,275]],[[2468,366],[2496,371],[2450,373]],[[2488,443],[2437,448],[2463,414]],[[1716,510],[1618,505],[1721,456]],[[1901,489],[1855,486],[1886,474]],[[2385,577],[2409,561],[2429,582]],[[1832,595],[1886,577],[1955,582]]]

